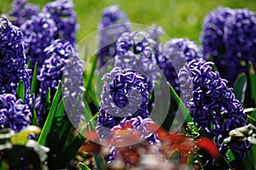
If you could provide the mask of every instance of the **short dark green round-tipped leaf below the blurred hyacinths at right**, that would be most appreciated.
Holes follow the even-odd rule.
[[[247,75],[242,72],[236,78],[235,86],[234,86],[234,94],[236,99],[243,102],[246,94],[247,89]]]

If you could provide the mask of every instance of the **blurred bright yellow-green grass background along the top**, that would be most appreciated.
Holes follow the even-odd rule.
[[[0,13],[7,13],[12,0],[2,0]],[[29,0],[41,7],[49,0]],[[96,31],[102,8],[118,4],[132,23],[162,26],[169,37],[189,37],[199,42],[204,17],[219,5],[256,11],[255,0],[73,0],[79,17],[78,40]]]

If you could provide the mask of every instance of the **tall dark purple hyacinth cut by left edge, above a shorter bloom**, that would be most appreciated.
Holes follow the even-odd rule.
[[[9,20],[0,19],[0,94],[15,94],[22,80],[27,100],[30,89],[28,78],[22,32]]]

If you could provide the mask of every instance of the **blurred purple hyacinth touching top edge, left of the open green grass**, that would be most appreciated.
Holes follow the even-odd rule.
[[[65,39],[73,44],[76,43],[78,31],[78,18],[73,10],[72,0],[55,0],[44,5],[43,13],[49,14],[49,18],[55,21],[57,32],[55,39]]]

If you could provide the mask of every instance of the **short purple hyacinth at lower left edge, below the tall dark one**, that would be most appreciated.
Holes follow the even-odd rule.
[[[0,94],[0,129],[9,127],[19,132],[30,125],[31,118],[28,105],[23,105],[21,99],[14,94]]]

